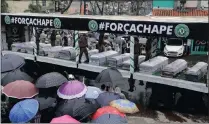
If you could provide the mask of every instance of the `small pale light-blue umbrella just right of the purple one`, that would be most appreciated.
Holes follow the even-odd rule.
[[[102,91],[97,87],[88,86],[85,98],[96,99]]]

